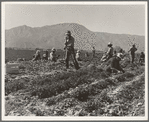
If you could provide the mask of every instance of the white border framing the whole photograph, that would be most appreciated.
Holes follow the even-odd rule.
[[[1,118],[2,121],[103,121],[103,120],[148,120],[148,55],[145,58],[145,116],[144,117],[53,117],[53,116],[5,116],[5,5],[6,4],[34,4],[34,5],[144,5],[145,7],[145,53],[148,54],[148,3],[146,1],[99,1],[99,2],[1,2],[1,52],[2,52],[2,78],[1,78],[1,96],[2,96],[2,111],[1,111]]]

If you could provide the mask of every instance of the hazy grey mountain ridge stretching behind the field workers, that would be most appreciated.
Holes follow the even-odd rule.
[[[67,30],[70,30],[75,38],[75,48],[77,49],[91,50],[92,46],[95,46],[97,50],[104,50],[108,42],[112,42],[113,46],[120,46],[126,51],[133,43],[136,43],[138,51],[144,51],[145,49],[144,36],[92,32],[76,23],[63,23],[34,28],[23,25],[6,30],[5,47],[43,49],[55,47],[63,49],[65,32]]]

